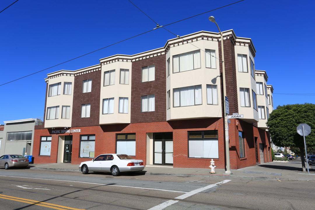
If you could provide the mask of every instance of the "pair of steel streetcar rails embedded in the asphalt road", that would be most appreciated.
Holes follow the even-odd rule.
[[[67,187],[67,188],[79,189],[79,190],[74,191],[74,192],[78,192],[78,191],[81,191],[81,190],[92,190],[92,191],[107,192],[107,193],[114,193],[114,194],[121,194],[121,195],[128,195],[128,196],[156,198],[156,199],[172,200],[172,201],[182,201],[182,202],[186,202],[186,203],[203,204],[203,205],[208,205],[208,206],[226,207],[226,208],[243,209],[243,210],[257,210],[257,209],[251,209],[251,208],[245,208],[245,207],[228,206],[228,205],[215,204],[215,203],[206,203],[206,202],[200,202],[200,201],[189,201],[189,200],[182,200],[182,199],[177,199],[177,198],[166,198],[166,197],[159,197],[159,196],[146,196],[146,195],[139,195],[139,194],[132,194],[132,193],[115,192],[115,191],[109,191],[109,190],[98,190],[98,189],[83,188],[83,187],[64,186],[64,185],[58,185],[58,184],[45,184],[45,183],[39,183],[39,182],[27,182],[27,181],[8,180],[8,179],[1,179],[1,180],[3,180],[3,181],[12,181],[12,182],[24,182],[24,183],[30,183],[30,184],[43,184],[43,185],[56,186],[56,187]],[[64,181],[66,181],[66,180],[64,180]],[[101,186],[104,186],[104,185],[101,185]],[[109,204],[109,203],[102,203],[102,202],[98,202],[98,201],[83,200],[83,199],[79,199],[79,198],[71,198],[71,197],[66,197],[66,196],[55,196],[55,195],[50,195],[50,194],[46,194],[46,193],[32,192],[32,191],[27,191],[27,190],[17,190],[17,189],[2,188],[2,187],[0,187],[0,189],[15,190],[15,191],[35,193],[35,194],[42,194],[42,195],[48,195],[48,196],[54,196],[54,197],[60,197],[60,198],[78,200],[78,201],[86,201],[86,202],[92,202],[92,203],[97,203],[97,204],[110,205],[110,206],[115,206],[115,207],[123,207],[123,208],[128,208],[128,209],[144,210],[144,209],[138,209],[138,208],[132,208],[132,207],[118,206],[118,205]],[[74,193],[74,192],[71,192],[71,193]]]

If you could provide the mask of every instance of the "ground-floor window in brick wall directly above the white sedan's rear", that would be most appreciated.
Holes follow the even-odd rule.
[[[135,156],[136,134],[135,133],[116,134],[116,153]]]

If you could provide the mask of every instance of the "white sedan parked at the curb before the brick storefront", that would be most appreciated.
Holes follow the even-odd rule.
[[[142,160],[135,160],[124,154],[103,154],[95,157],[91,161],[82,162],[79,170],[83,174],[93,172],[111,172],[113,176],[118,176],[120,172],[135,172],[144,169]]]

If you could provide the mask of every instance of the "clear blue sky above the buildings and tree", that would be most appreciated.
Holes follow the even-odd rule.
[[[0,11],[14,2],[0,1]],[[221,31],[233,29],[236,36],[252,39],[255,68],[267,72],[275,108],[315,104],[314,0],[244,0],[227,7],[223,6],[237,0],[132,2],[159,25],[170,24],[165,28],[172,33],[159,28],[112,45],[156,27],[128,0],[19,0],[1,12],[0,124],[44,115],[48,73],[160,48],[174,34],[218,32],[209,16],[215,16]],[[179,20],[183,21],[174,23]],[[104,49],[58,65],[100,48]],[[44,70],[54,65],[58,66]]]

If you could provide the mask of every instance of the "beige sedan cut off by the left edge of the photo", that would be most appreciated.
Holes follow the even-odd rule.
[[[28,159],[22,155],[3,155],[0,157],[0,167],[9,169],[11,167],[26,167]]]

